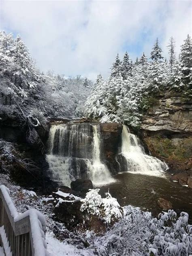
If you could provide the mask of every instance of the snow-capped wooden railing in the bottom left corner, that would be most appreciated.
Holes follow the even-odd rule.
[[[0,243],[9,255],[13,256],[47,256],[44,216],[35,209],[18,213],[6,186],[0,186],[0,226],[3,227],[8,245],[5,245],[4,235],[0,234]],[[7,254],[5,254],[7,255]]]

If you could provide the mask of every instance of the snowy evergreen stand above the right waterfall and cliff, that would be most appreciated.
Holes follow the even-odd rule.
[[[151,51],[151,61],[145,53],[134,64],[126,52],[123,60],[117,54],[111,76],[96,80],[85,105],[85,115],[100,118],[100,122],[121,122],[139,127],[141,114],[147,108],[147,97],[165,89],[190,94],[192,86],[192,42],[190,36],[175,56],[175,41],[170,39],[169,63],[162,56],[158,38]]]

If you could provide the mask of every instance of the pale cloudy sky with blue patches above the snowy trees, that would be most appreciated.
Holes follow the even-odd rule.
[[[110,74],[119,53],[150,57],[159,38],[165,57],[192,34],[192,1],[0,0],[0,30],[19,34],[41,71],[95,79]]]

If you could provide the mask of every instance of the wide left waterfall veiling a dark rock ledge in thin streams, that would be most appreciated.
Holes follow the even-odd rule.
[[[65,186],[77,178],[91,179],[97,185],[114,181],[100,160],[99,127],[91,124],[51,126],[46,159],[54,181]]]

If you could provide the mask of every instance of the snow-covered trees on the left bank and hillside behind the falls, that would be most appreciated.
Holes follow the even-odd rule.
[[[26,116],[81,116],[92,81],[48,73],[39,73],[20,36],[0,32],[0,92],[13,99],[12,107],[20,106]]]

